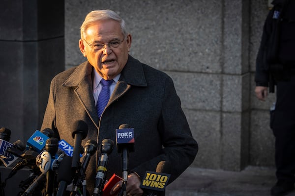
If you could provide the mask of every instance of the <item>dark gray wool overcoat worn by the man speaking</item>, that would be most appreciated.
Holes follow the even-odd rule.
[[[74,145],[73,123],[83,120],[89,126],[83,146],[90,139],[99,146],[103,139],[112,139],[115,147],[107,165],[108,179],[113,173],[122,174],[115,132],[119,125],[127,123],[134,128],[135,135],[135,151],[130,153],[129,169],[144,176],[147,170],[155,171],[157,164],[166,160],[171,163],[170,182],[175,180],[193,162],[198,145],[180,107],[172,79],[129,55],[99,120],[91,72],[92,66],[87,61],[53,78],[41,130],[51,128],[56,137]],[[87,170],[87,186],[91,193],[99,156],[98,152],[91,157]]]

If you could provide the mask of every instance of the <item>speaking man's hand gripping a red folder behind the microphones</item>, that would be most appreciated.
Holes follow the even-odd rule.
[[[140,188],[141,180],[135,173],[128,175],[128,181],[126,186],[127,196],[142,196],[144,191]],[[111,195],[118,194],[122,187],[122,181],[119,181],[111,190]]]

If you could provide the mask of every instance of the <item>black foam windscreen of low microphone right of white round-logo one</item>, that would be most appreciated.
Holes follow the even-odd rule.
[[[58,177],[57,181],[66,181],[67,184],[70,184],[74,178],[74,172],[72,170],[72,157],[65,156],[62,161],[59,163]]]

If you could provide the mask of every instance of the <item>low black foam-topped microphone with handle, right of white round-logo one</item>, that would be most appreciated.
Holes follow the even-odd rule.
[[[72,157],[63,157],[61,163],[59,164],[57,181],[59,182],[59,189],[57,196],[63,196],[66,191],[66,187],[70,184],[74,177],[74,171],[71,167]]]

